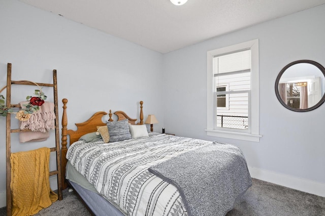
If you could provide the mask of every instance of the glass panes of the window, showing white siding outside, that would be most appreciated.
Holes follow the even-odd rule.
[[[213,57],[216,92],[215,128],[249,130],[250,50]],[[228,83],[228,90],[220,83]],[[228,109],[224,109],[226,98]],[[229,105],[230,104],[230,105]]]

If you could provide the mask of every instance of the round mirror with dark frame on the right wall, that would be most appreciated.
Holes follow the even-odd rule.
[[[325,68],[311,60],[286,65],[275,81],[280,103],[293,111],[316,109],[325,101]]]

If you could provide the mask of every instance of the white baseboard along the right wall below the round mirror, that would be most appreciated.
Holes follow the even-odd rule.
[[[260,169],[256,167],[248,167],[250,176],[254,179],[281,185],[287,188],[315,194],[325,197],[325,184],[307,179],[301,179],[294,176],[279,174],[277,172]]]

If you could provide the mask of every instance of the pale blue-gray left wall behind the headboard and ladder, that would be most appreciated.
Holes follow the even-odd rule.
[[[12,63],[13,80],[51,83],[52,70],[56,69],[59,119],[61,100],[68,98],[68,128],[76,129],[74,123],[110,109],[139,118],[139,102],[143,100],[145,119],[155,114],[159,123],[154,128],[160,132],[164,123],[161,54],[14,0],[0,1],[0,29],[0,88],[6,85],[7,63]],[[13,89],[12,102],[25,100],[34,89]],[[43,90],[51,96],[52,89]],[[2,94],[6,96],[6,91]],[[0,143],[2,207],[6,205],[5,117],[0,117]],[[12,134],[12,152],[44,144],[55,146],[54,132],[47,142],[25,144],[19,143],[18,134]],[[52,160],[51,167],[54,163]],[[51,178],[53,190],[55,181]]]

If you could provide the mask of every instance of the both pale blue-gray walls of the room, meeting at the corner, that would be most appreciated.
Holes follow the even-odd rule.
[[[145,116],[155,114],[159,121],[155,131],[165,126],[166,133],[236,144],[253,177],[313,193],[325,185],[325,105],[306,113],[287,110],[275,96],[274,82],[292,61],[310,59],[325,66],[324,12],[325,5],[319,6],[161,55],[56,14],[1,0],[0,85],[6,84],[8,62],[13,64],[14,80],[51,82],[56,69],[59,101],[69,99],[69,128],[95,111],[124,110],[138,117],[143,100]],[[207,51],[256,38],[261,142],[208,137]],[[15,89],[12,101],[24,100],[34,89]],[[48,96],[50,91],[44,89]],[[0,117],[0,207],[6,205],[5,125]],[[53,135],[46,145],[52,146]],[[20,144],[14,134],[12,151],[44,143]],[[52,178],[56,189],[53,182]],[[324,196],[324,189],[318,191]]]

